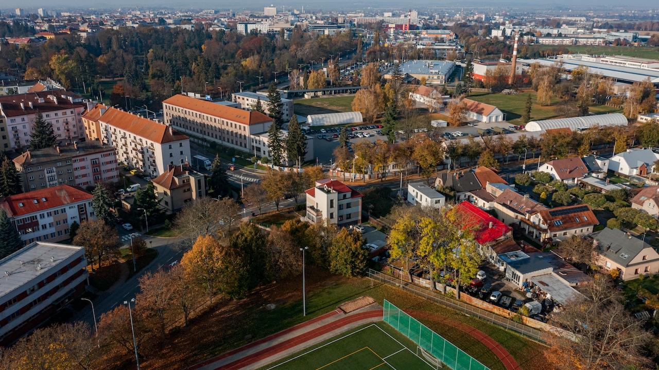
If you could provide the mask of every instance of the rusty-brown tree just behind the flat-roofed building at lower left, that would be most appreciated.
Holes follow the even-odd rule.
[[[94,270],[94,261],[98,267],[103,264],[103,259],[112,260],[119,255],[119,236],[114,227],[108,226],[102,219],[88,220],[80,224],[78,234],[73,238],[73,244],[84,246],[87,261]]]

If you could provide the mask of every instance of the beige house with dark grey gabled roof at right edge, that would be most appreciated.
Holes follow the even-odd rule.
[[[617,269],[622,280],[659,272],[659,253],[645,241],[608,227],[592,234],[592,238],[594,262],[607,271]]]

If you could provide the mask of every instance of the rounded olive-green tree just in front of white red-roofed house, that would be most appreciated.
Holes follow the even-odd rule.
[[[368,261],[368,251],[362,248],[362,234],[342,228],[328,248],[329,271],[354,277],[363,273]]]

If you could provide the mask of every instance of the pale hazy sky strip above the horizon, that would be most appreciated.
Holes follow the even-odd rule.
[[[272,1],[272,0],[271,0]],[[301,7],[304,5],[307,9],[364,9],[364,7],[374,7],[378,9],[386,7],[395,7],[400,8],[401,2],[397,0],[365,0],[365,1],[355,1],[355,0],[335,0],[335,1],[302,1],[302,0],[291,0],[286,1],[285,3],[277,3],[271,1],[259,1],[259,0],[243,0],[243,1],[227,1],[227,0],[1,0],[0,6],[5,11],[13,9],[16,7],[22,7],[24,9],[30,8],[49,8],[49,9],[59,9],[65,7],[98,7],[103,9],[110,9],[111,7],[176,7],[183,8],[184,4],[187,7],[200,7],[205,9],[259,9],[264,5],[270,5],[271,3],[277,5],[281,8],[283,5],[286,7]],[[657,0],[625,0],[623,3],[619,0],[448,0],[438,3],[436,1],[428,0],[408,0],[405,1],[405,8],[407,7],[477,7],[483,6],[487,8],[492,8],[496,6],[513,6],[513,7],[529,7],[534,9],[548,9],[550,7],[559,5],[559,6],[569,6],[574,8],[586,8],[586,7],[596,7],[598,10],[602,10],[602,6],[611,6],[611,7],[621,7],[621,4],[624,4],[625,9],[630,7],[634,8],[648,8],[648,9],[657,9],[659,8],[659,2]],[[504,9],[501,9],[504,10]]]

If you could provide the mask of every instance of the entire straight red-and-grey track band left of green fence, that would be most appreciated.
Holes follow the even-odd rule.
[[[343,314],[339,309],[336,309],[315,319],[305,321],[289,329],[256,340],[256,342],[193,365],[189,369],[258,369],[268,363],[332,338],[345,330],[380,321],[381,319],[382,307],[377,304],[368,305],[347,314]]]

